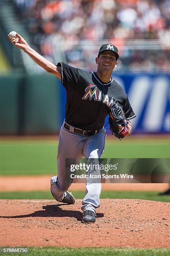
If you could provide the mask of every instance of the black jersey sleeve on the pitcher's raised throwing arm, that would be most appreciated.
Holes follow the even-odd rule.
[[[58,62],[57,66],[61,67],[61,82],[65,89],[70,90],[72,87],[75,87],[79,79],[78,69],[64,62]]]

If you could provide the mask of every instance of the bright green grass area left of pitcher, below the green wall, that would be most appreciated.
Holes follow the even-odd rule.
[[[54,174],[57,143],[21,141],[0,143],[0,175]]]

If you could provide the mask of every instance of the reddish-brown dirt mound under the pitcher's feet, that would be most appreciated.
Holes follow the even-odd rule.
[[[0,200],[0,246],[168,248],[170,203],[102,199],[95,223],[81,223],[81,200]]]

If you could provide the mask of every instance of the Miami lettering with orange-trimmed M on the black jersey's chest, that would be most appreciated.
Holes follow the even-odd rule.
[[[94,99],[97,101],[101,101],[102,92],[97,92],[97,87],[95,85],[90,84],[85,88],[85,95],[82,97],[82,100],[87,100],[87,98],[89,98],[89,100]],[[102,102],[107,104],[108,107],[112,107],[114,100],[113,98],[111,98],[111,100],[109,101],[109,96],[106,94]]]

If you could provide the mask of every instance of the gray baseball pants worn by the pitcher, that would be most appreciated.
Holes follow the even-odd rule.
[[[100,159],[105,148],[106,131],[104,128],[92,136],[85,136],[72,132],[74,127],[71,126],[71,131],[68,131],[64,127],[63,123],[60,129],[59,145],[57,154],[57,176],[51,178],[51,191],[53,197],[57,201],[62,201],[65,195],[65,191],[71,186],[71,183],[65,181],[65,159],[74,159],[72,164],[79,164],[80,159],[84,156],[87,159],[87,164],[90,159]],[[93,160],[92,160],[93,161]],[[70,172],[70,170],[69,170]],[[100,174],[100,169],[89,169],[87,174]],[[81,209],[92,210],[96,213],[95,208],[100,207],[100,193],[101,182],[90,182],[90,179],[86,179],[86,192],[85,197],[82,200]]]

